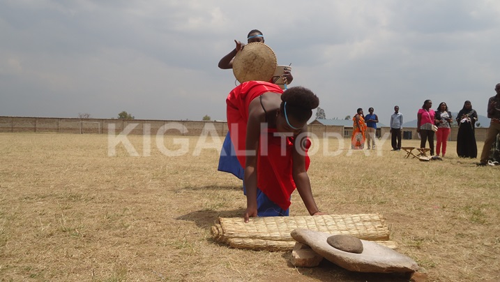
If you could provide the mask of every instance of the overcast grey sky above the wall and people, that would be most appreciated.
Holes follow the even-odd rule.
[[[217,64],[251,29],[328,119],[410,121],[426,99],[486,115],[500,82],[498,0],[0,0],[0,115],[225,120]]]

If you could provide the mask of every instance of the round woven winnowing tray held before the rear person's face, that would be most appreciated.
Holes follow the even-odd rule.
[[[278,65],[271,47],[264,43],[252,42],[236,53],[233,61],[233,73],[238,82],[250,80],[269,81]]]

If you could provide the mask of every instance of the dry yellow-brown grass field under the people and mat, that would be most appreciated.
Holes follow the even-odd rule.
[[[139,156],[123,144],[109,156],[107,135],[0,134],[0,281],[406,281],[214,242],[215,220],[245,209],[241,181],[216,170],[222,137],[201,151],[197,137],[128,140]],[[321,210],[382,214],[428,281],[500,280],[500,167],[457,158],[455,142],[444,161],[421,162],[390,140],[369,154],[328,140],[336,156],[320,141]],[[308,214],[297,193],[290,211]]]

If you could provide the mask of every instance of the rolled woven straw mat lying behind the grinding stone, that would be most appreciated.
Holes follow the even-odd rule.
[[[250,218],[219,218],[212,226],[213,238],[234,248],[281,251],[291,250],[296,241],[290,232],[306,228],[331,235],[352,235],[396,248],[389,241],[390,231],[379,214],[344,214],[324,216],[270,216]]]

